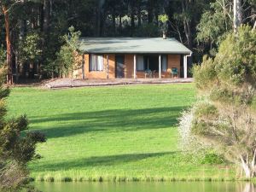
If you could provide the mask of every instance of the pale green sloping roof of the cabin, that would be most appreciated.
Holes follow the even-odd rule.
[[[192,53],[175,38],[80,38],[80,43],[80,51],[92,54]]]

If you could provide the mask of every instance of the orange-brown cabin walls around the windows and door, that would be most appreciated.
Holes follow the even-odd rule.
[[[115,79],[116,78],[116,64],[115,55],[110,54],[104,55],[104,68],[102,71],[90,71],[89,61],[90,56],[88,54],[84,55],[84,77],[85,79]],[[171,78],[172,67],[176,67],[178,71],[178,77],[180,77],[180,61],[181,55],[168,55],[167,56],[167,71],[161,73],[162,78]],[[134,55],[125,55],[125,79],[134,78]],[[79,70],[79,78],[82,78],[82,70]],[[137,72],[137,78],[145,78],[144,72]],[[154,78],[159,78],[159,73],[155,73]]]

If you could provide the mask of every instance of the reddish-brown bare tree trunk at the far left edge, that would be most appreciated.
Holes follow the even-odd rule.
[[[0,2],[1,3],[1,2]],[[12,67],[12,44],[10,40],[10,29],[9,29],[9,13],[8,8],[2,3],[2,10],[4,15],[4,26],[5,26],[5,39],[6,39],[6,52],[7,52],[7,84],[13,84],[13,67]]]

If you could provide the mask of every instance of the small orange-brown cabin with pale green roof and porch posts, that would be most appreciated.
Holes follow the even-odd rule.
[[[81,38],[83,79],[187,78],[191,50],[175,38]]]

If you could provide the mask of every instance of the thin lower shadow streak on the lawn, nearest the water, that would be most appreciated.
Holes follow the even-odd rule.
[[[42,166],[37,165],[38,172],[44,171],[60,171],[65,169],[75,169],[81,167],[96,167],[96,166],[117,166],[120,164],[135,162],[138,160],[145,160],[152,157],[160,157],[166,154],[177,154],[179,152],[163,152],[150,154],[117,154],[107,156],[95,156],[79,160],[63,161],[61,163],[46,164]]]

